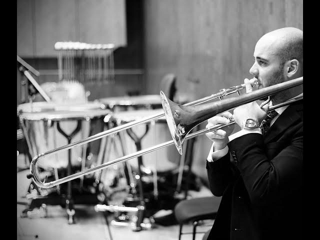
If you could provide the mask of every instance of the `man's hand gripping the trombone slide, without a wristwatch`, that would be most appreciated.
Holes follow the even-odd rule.
[[[216,125],[216,124],[227,124],[230,122],[230,120],[227,118],[231,118],[232,114],[228,111],[223,112],[219,115],[213,116],[208,119],[208,124],[206,124],[206,128]],[[205,133],[205,135],[214,142],[214,151],[220,150],[226,146],[226,144],[229,142],[228,136],[233,131],[234,125],[228,125],[226,127],[223,127],[222,129],[213,130],[210,132]]]

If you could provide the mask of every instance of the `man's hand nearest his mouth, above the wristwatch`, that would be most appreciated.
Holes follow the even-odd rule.
[[[252,91],[252,86],[247,78],[244,79],[246,92]],[[266,117],[269,109],[269,104],[265,104],[262,108],[259,107],[256,101],[238,106],[233,110],[233,119],[241,127],[244,120],[252,118],[257,120],[258,124]]]

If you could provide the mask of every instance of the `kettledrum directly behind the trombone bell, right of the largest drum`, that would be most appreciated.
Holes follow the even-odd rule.
[[[120,111],[115,112],[112,118],[115,119],[117,125],[121,125],[130,121],[140,120],[145,117],[149,117],[155,114],[163,113],[161,109],[153,110],[132,110],[132,111]],[[165,117],[154,119],[148,123],[149,128],[147,133],[141,139],[141,148],[145,149],[147,147],[154,146],[165,141],[172,140],[171,134],[167,127]],[[145,124],[139,124],[137,126],[131,127],[132,131],[138,136],[142,136],[145,132]],[[133,139],[128,134],[123,134],[124,136],[124,147],[125,153],[132,153],[136,151],[136,146]],[[130,165],[137,167],[137,158],[128,160]],[[180,155],[175,149],[174,144],[165,148],[158,149],[156,151],[147,153],[142,156],[143,165],[150,169],[151,171],[166,171],[176,168]]]

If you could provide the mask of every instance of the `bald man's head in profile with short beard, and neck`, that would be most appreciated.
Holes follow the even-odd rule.
[[[303,76],[303,32],[294,27],[284,27],[264,34],[256,43],[255,59],[250,73],[261,87]],[[277,104],[302,92],[302,85],[289,88],[271,96]]]

